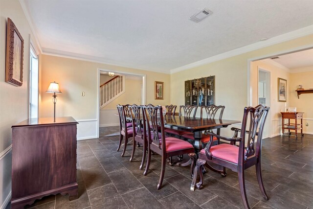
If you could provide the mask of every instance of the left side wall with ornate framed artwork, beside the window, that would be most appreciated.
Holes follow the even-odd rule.
[[[24,40],[23,84],[21,87],[4,82],[7,18],[15,23]],[[30,26],[18,0],[0,0],[0,207],[11,191],[11,126],[28,117],[28,73]],[[35,46],[36,47],[36,46]]]

